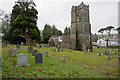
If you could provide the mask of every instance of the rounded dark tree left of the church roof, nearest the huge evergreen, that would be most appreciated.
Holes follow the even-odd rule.
[[[43,29],[43,40],[45,43],[48,43],[48,40],[52,36],[52,29],[51,26],[48,24],[45,24],[44,29]]]

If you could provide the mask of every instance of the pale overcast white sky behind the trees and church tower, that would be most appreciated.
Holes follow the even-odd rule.
[[[7,13],[17,0],[0,0],[0,9]],[[33,0],[38,11],[37,26],[44,29],[45,24],[56,25],[64,32],[66,26],[71,25],[71,7],[80,5],[83,1],[89,5],[90,24],[92,33],[98,33],[100,28],[107,26],[118,27],[118,1],[119,0]],[[112,31],[113,34],[116,31]]]

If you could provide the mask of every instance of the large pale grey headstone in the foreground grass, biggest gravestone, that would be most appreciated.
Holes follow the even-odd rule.
[[[30,65],[28,64],[28,57],[25,53],[17,55],[17,66]]]

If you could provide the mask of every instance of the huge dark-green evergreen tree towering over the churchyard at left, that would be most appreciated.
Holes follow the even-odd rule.
[[[38,12],[34,8],[34,2],[16,2],[11,14],[11,28],[9,33],[11,40],[24,38],[26,44],[32,43],[32,40],[40,41],[40,31],[37,25]]]

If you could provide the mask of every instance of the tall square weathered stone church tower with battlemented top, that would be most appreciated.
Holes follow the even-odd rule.
[[[92,51],[89,5],[83,2],[79,6],[72,6],[70,45],[74,50]]]

